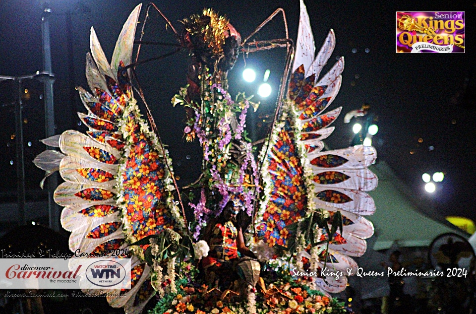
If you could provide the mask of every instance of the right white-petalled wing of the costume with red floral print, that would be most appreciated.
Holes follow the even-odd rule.
[[[262,152],[262,178],[265,197],[256,218],[258,238],[270,247],[287,248],[298,241],[299,231],[292,228],[313,210],[322,208],[332,217],[340,211],[342,233],[334,235],[329,244],[327,268],[355,270],[356,262],[349,256],[361,256],[366,250],[364,239],[373,234],[372,224],[362,217],[375,211],[373,199],[365,193],[377,186],[376,176],[367,169],[376,159],[370,146],[355,146],[334,151],[321,151],[322,139],[329,136],[330,126],[341,107],[323,113],[335,99],[341,86],[344,58],[318,79],[335,46],[333,30],[315,54],[309,16],[300,1],[296,55],[288,85],[287,99],[274,126],[269,147]],[[317,230],[318,240],[326,240],[325,228]],[[308,248],[297,254],[297,261],[310,260],[319,269],[324,267],[325,251],[319,258]],[[355,273],[355,271],[353,272]],[[317,279],[316,288],[328,292],[345,289],[347,278]]]

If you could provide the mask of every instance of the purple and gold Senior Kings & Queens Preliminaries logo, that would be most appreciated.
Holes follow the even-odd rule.
[[[397,12],[397,53],[464,53],[465,12]]]

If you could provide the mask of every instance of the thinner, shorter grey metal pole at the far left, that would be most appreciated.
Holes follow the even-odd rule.
[[[16,146],[16,182],[18,196],[18,224],[26,225],[25,219],[25,159],[23,148],[23,103],[21,100],[22,87],[21,79],[16,80],[18,84],[18,101],[15,105],[15,146]]]

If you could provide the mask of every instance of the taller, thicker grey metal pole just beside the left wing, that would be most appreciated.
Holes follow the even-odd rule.
[[[41,17],[41,35],[43,46],[43,68],[48,76],[44,81],[45,94],[45,126],[46,137],[55,135],[55,111],[53,103],[53,77],[51,68],[51,47],[50,47],[50,22],[51,8],[48,2],[43,2],[43,15]],[[53,147],[51,148],[53,149]],[[50,213],[50,228],[56,231],[60,230],[60,208],[55,203],[53,195],[58,186],[58,175],[55,173],[47,179],[48,187],[48,207]]]

